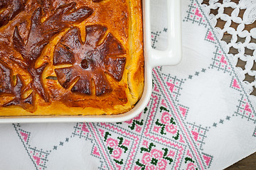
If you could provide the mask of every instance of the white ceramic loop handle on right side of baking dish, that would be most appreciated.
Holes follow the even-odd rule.
[[[146,44],[151,67],[175,65],[181,61],[181,0],[167,0],[168,47],[165,51],[151,48],[150,1],[145,0]]]

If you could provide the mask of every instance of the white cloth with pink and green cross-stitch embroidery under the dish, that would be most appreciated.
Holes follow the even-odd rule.
[[[224,169],[255,152],[255,98],[201,2],[182,1],[183,59],[153,70],[151,100],[137,118],[0,125],[1,169]],[[159,50],[166,47],[165,6],[151,1]]]

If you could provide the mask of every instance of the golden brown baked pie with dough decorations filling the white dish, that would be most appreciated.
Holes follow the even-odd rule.
[[[8,9],[9,21],[0,17],[0,116],[118,114],[139,100],[141,0],[20,6]]]

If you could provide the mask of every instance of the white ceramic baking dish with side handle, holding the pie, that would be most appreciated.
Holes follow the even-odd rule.
[[[175,65],[181,60],[181,0],[168,0],[168,47],[165,51],[151,48],[150,0],[143,2],[144,29],[144,92],[131,111],[119,115],[78,115],[67,117],[0,118],[0,123],[50,122],[122,122],[139,115],[146,107],[152,92],[152,69],[156,66]]]

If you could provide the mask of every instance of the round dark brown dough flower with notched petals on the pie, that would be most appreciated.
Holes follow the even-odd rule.
[[[72,28],[55,47],[53,64],[72,64],[72,67],[55,69],[58,81],[65,89],[76,80],[71,91],[80,94],[92,94],[92,79],[95,82],[95,94],[101,96],[112,91],[105,72],[116,81],[121,81],[124,72],[125,50],[111,33],[105,37],[107,27],[92,25],[85,27],[85,42],[81,40],[79,28]],[[99,44],[100,43],[100,44]]]

